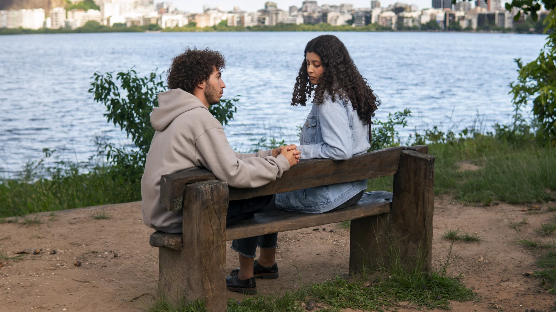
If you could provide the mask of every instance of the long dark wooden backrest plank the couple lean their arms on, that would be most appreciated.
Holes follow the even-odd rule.
[[[428,153],[426,145],[414,147],[391,147],[347,160],[303,159],[285,172],[280,179],[259,188],[229,188],[229,200],[252,198],[262,195],[289,192],[291,190],[318,187],[334,183],[352,182],[394,175],[398,171],[401,151],[413,149],[420,153]],[[170,211],[183,208],[183,192],[190,183],[205,180],[217,180],[207,169],[184,170],[173,174],[162,175],[160,196],[162,203]]]

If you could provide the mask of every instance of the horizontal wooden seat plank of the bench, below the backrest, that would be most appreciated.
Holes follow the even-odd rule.
[[[226,240],[245,238],[267,233],[298,230],[318,225],[354,220],[370,215],[390,213],[392,193],[375,191],[363,194],[363,198],[350,207],[327,213],[286,212],[257,213],[254,218],[242,220],[226,228]],[[151,246],[182,250],[182,234],[155,232],[151,234]]]

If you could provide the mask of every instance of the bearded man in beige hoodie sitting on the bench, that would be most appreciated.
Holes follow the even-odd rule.
[[[163,174],[205,167],[231,187],[256,188],[280,178],[299,162],[300,152],[294,144],[252,154],[235,153],[230,147],[222,125],[209,112],[210,105],[219,103],[224,93],[226,85],[220,70],[225,67],[222,54],[210,49],[187,49],[172,60],[167,78],[170,90],[158,94],[159,107],[152,110],[151,124],[156,132],[141,180],[143,222],[151,228],[166,233],[182,232],[181,210],[170,212],[160,200],[160,177]],[[271,200],[269,195],[231,201],[227,225],[251,217]],[[276,271],[277,276],[274,262],[276,238],[276,233],[261,236],[260,239],[266,241],[261,248],[274,249],[261,253],[259,263],[272,262],[271,270]],[[253,278],[255,255],[245,249],[245,246],[253,245],[249,242],[254,239],[259,237],[234,240],[232,244],[232,249],[240,253],[242,279],[237,275],[227,278],[229,290],[256,293]]]

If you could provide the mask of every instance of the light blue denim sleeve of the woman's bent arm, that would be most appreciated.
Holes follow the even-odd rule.
[[[327,99],[320,105],[319,122],[324,142],[297,147],[301,158],[350,159],[353,156],[353,140],[344,105],[338,100],[332,102]]]

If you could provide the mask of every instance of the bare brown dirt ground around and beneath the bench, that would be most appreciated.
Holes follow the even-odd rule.
[[[450,269],[453,274],[463,273],[464,283],[478,297],[477,301],[452,303],[453,311],[554,308],[556,297],[545,293],[538,279],[524,275],[535,269],[535,251],[516,244],[519,235],[509,227],[509,220],[527,218],[527,224],[519,227],[521,235],[547,240],[550,238],[543,238],[533,229],[553,219],[554,213],[542,206],[540,211],[523,211],[527,208],[504,203],[466,207],[448,197],[436,198],[433,265],[440,265],[448,254],[450,242],[441,238],[445,230],[476,232],[482,238],[478,243],[454,244],[457,256]],[[91,217],[99,212],[107,212],[111,218]],[[140,311],[156,294],[158,250],[148,244],[152,230],[141,220],[139,202],[38,216],[41,224],[24,225],[21,217],[17,224],[0,224],[0,251],[4,256],[41,249],[39,254],[23,254],[18,259],[0,258],[0,311]],[[51,254],[54,250],[56,254]],[[81,261],[81,266],[75,266],[76,261]],[[280,278],[257,280],[260,293],[274,294],[299,283],[345,274],[349,230],[329,224],[318,231],[309,228],[281,233],[277,263]],[[227,270],[237,265],[236,253],[229,250]],[[237,294],[229,296],[242,299]],[[407,303],[399,303],[397,308],[415,310]]]

